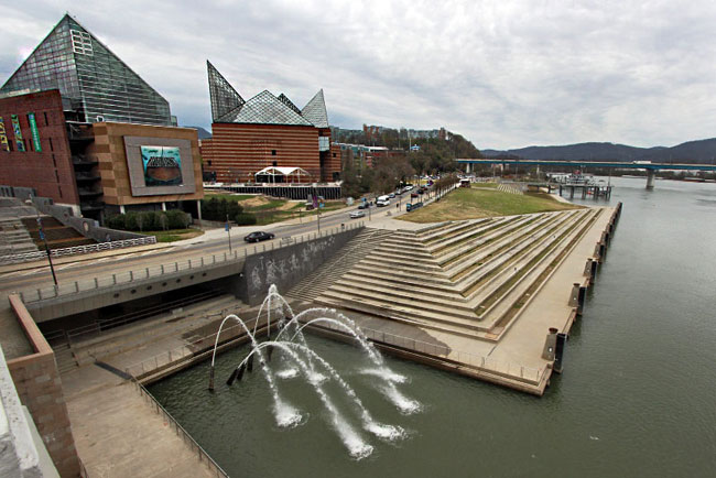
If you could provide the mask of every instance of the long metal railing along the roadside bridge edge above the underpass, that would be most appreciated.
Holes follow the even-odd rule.
[[[345,228],[335,227],[328,230],[323,230],[321,232],[301,235],[299,238],[295,238],[294,243],[302,243],[315,239],[335,236],[336,233],[360,228],[362,226],[364,222],[358,222],[358,224],[350,224]],[[131,240],[135,240],[135,239],[131,239]],[[107,243],[111,243],[111,242],[107,242]],[[291,245],[270,242],[269,247],[267,247],[265,243],[262,243],[261,247],[259,247],[258,245],[254,246],[252,252],[250,252],[249,248],[247,247],[246,249],[243,249],[242,254],[235,249],[234,253],[224,252],[223,254],[202,256],[198,258],[188,259],[186,261],[175,261],[174,263],[169,263],[169,264],[148,267],[138,270],[130,270],[127,272],[115,273],[101,278],[94,278],[93,280],[87,280],[87,281],[74,281],[68,283],[62,283],[59,285],[53,285],[50,287],[22,291],[20,292],[20,298],[22,298],[22,301],[25,304],[29,304],[31,302],[55,298],[62,295],[72,295],[72,294],[78,294],[87,291],[95,291],[98,289],[115,287],[116,285],[119,284],[130,284],[133,282],[145,281],[149,279],[158,279],[169,274],[176,274],[183,271],[200,270],[208,267],[215,267],[218,264],[236,262],[236,261],[245,260],[249,256],[260,254],[267,251],[281,249],[289,246]]]

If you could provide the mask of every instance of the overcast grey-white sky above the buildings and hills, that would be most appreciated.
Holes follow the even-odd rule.
[[[6,3],[0,82],[65,11],[210,127],[205,61],[245,99],[333,126],[446,129],[480,149],[716,137],[716,1],[37,1]]]

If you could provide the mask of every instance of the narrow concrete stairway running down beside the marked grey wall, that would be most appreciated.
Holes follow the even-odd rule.
[[[334,257],[284,295],[291,300],[313,302],[323,291],[332,286],[343,274],[391,237],[392,233],[393,231],[390,230],[364,228]]]

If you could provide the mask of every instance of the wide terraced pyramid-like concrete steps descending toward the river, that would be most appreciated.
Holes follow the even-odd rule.
[[[600,211],[397,231],[341,273],[316,303],[495,340]]]

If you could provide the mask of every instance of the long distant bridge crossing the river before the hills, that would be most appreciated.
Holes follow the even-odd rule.
[[[475,164],[502,164],[518,166],[566,166],[572,170],[583,170],[585,167],[612,167],[621,170],[647,170],[647,189],[654,187],[654,177],[659,170],[685,170],[685,171],[716,171],[714,164],[681,164],[681,163],[644,163],[641,161],[621,163],[619,161],[567,161],[567,160],[505,160],[505,159],[486,159],[486,160],[457,160],[458,164],[465,164],[467,172],[471,172]]]

